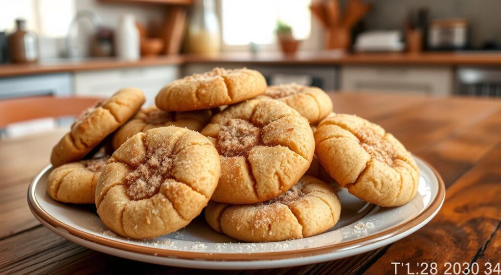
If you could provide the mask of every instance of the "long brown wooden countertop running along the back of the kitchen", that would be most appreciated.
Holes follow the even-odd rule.
[[[245,64],[373,64],[373,65],[500,65],[501,52],[427,52],[409,53],[358,53],[341,51],[298,52],[286,56],[280,52],[259,53],[229,52],[213,56],[204,55],[164,55],[145,57],[137,61],[116,58],[55,59],[33,64],[1,64],[0,77],[38,73],[73,72],[83,70],[114,69],[185,63],[245,63]]]

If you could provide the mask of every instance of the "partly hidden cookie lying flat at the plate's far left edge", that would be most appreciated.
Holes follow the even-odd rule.
[[[55,168],[47,179],[47,192],[62,202],[94,203],[96,184],[108,158],[85,159]]]

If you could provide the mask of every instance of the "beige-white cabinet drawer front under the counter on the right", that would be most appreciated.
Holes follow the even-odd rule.
[[[449,95],[453,88],[452,67],[342,66],[341,90],[405,92]]]

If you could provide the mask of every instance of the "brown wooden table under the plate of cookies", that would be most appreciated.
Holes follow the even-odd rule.
[[[337,112],[381,124],[440,172],[447,186],[440,212],[410,236],[364,254],[292,268],[212,273],[393,274],[392,261],[409,262],[410,271],[419,271],[418,262],[436,262],[443,272],[445,262],[483,267],[500,260],[501,100],[369,93],[336,93],[332,99]],[[28,209],[27,188],[49,163],[62,133],[0,140],[0,273],[201,272],[96,252],[42,226]]]

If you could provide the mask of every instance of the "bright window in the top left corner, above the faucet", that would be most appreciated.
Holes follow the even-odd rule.
[[[0,30],[13,31],[15,20],[27,20],[27,28],[44,37],[66,36],[75,14],[74,0],[0,0]],[[8,7],[8,8],[7,8]]]

